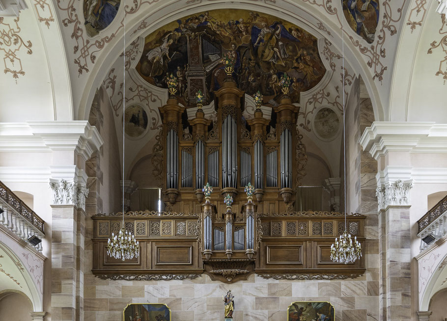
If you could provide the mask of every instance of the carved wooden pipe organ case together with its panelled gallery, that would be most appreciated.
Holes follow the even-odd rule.
[[[207,273],[234,282],[255,272],[276,279],[343,279],[365,271],[364,258],[334,263],[331,244],[345,230],[344,214],[295,212],[296,188],[305,174],[305,147],[296,129],[299,107],[287,95],[270,119],[257,108],[242,116],[244,92],[231,76],[215,92],[216,120],[201,108],[185,117],[170,96],[160,108],[163,128],[154,147],[154,176],[166,211],[128,212],[124,227],[140,241],[140,256],[115,260],[107,240],[122,227],[122,213],[97,214],[93,270],[112,279],[184,279]],[[202,187],[213,187],[204,200]],[[244,187],[254,186],[248,200]],[[223,203],[230,194],[231,208]],[[347,216],[346,229],[364,248],[364,219]]]

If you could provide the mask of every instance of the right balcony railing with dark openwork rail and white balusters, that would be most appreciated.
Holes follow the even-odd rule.
[[[418,236],[423,239],[428,234],[444,236],[447,234],[447,195],[441,199],[431,210],[429,210],[418,221]],[[420,241],[420,250],[424,250],[428,245]]]

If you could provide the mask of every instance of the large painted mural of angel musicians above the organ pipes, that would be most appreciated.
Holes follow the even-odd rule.
[[[221,59],[231,54],[234,78],[248,94],[258,90],[264,101],[279,96],[279,78],[292,78],[290,96],[314,87],[326,70],[317,39],[302,28],[277,17],[246,10],[212,10],[165,25],[145,38],[136,69],[149,83],[168,88],[170,74],[178,80],[185,103],[198,89],[209,99],[225,76]]]

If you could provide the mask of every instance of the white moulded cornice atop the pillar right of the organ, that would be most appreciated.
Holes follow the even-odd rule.
[[[378,160],[389,151],[447,153],[447,124],[434,122],[374,122],[359,143]]]

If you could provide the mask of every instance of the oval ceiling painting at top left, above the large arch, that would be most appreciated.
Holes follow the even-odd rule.
[[[110,25],[119,9],[120,0],[84,0],[84,19],[87,35],[96,36]]]

